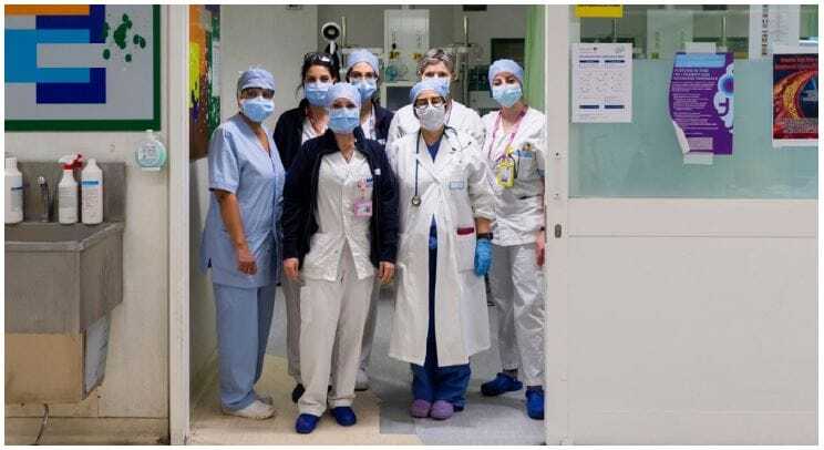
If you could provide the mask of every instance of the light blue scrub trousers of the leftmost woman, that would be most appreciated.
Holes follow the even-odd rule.
[[[217,313],[220,402],[244,409],[257,399],[266,341],[275,310],[275,284],[241,288],[213,284]]]

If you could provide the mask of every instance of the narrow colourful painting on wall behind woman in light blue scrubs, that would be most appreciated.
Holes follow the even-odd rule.
[[[220,124],[220,6],[189,6],[189,157],[206,156]]]

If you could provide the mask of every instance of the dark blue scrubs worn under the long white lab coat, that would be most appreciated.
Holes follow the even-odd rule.
[[[435,160],[439,140],[428,145],[432,160]],[[472,371],[468,364],[437,367],[437,345],[435,340],[435,279],[437,277],[437,226],[432,216],[429,241],[429,330],[426,331],[426,358],[423,366],[412,366],[412,396],[430,403],[436,400],[449,401],[456,411],[466,405],[466,389]]]

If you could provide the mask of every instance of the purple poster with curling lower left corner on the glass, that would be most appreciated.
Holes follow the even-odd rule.
[[[732,154],[732,53],[676,54],[670,117],[683,153]]]

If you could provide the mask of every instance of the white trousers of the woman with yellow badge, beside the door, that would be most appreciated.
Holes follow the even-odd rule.
[[[526,386],[543,386],[544,277],[535,264],[535,244],[493,244],[490,287],[498,309],[504,370],[518,369]]]

